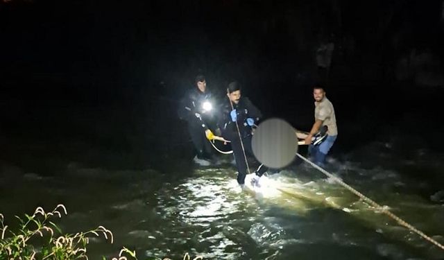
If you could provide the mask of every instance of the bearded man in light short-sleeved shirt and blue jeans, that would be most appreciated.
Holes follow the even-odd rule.
[[[333,104],[325,96],[324,88],[321,85],[315,85],[313,88],[314,97],[314,124],[311,127],[309,135],[305,138],[305,144],[309,144],[309,153],[314,163],[318,166],[325,166],[325,157],[332,148],[338,128],[336,126],[336,116],[334,114]],[[312,137],[316,135],[322,127],[327,126],[327,138],[321,144],[311,144]]]

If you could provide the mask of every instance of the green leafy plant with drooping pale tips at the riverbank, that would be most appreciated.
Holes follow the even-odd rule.
[[[62,234],[60,228],[51,221],[51,218],[61,218],[62,214],[67,215],[64,205],[57,205],[47,213],[42,207],[37,207],[32,216],[16,216],[19,220],[17,232],[8,229],[3,214],[0,214],[0,259],[87,259],[89,236],[101,234],[112,243],[112,232],[103,226],[87,232]]]

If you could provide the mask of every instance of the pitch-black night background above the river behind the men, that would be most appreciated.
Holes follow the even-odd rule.
[[[197,73],[219,95],[239,80],[266,117],[309,130],[324,39],[335,44],[333,152],[409,132],[438,135],[426,144],[438,153],[443,4],[2,0],[0,159],[50,172],[191,157],[176,109]]]

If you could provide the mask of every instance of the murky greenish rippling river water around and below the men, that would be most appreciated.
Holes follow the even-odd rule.
[[[409,193],[415,182],[380,166],[336,164],[334,173],[444,242],[444,207]],[[62,227],[67,232],[104,225],[114,233],[114,245],[92,241],[92,259],[115,255],[121,245],[135,249],[139,259],[182,259],[185,252],[205,259],[444,256],[305,164],[262,177],[262,188],[255,191],[241,191],[229,166],[196,169],[174,182],[164,182],[161,176],[155,171],[83,168],[71,169],[63,179],[29,174],[10,185],[0,205],[2,210],[19,211],[15,201],[31,189],[38,198],[28,197],[20,208],[64,203],[69,214]]]

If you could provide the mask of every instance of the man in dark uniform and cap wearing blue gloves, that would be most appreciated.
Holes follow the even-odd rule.
[[[241,98],[241,85],[239,83],[232,82],[228,85],[227,96],[228,100],[221,106],[221,114],[219,114],[217,125],[223,138],[231,141],[238,171],[237,182],[241,187],[244,187],[245,176],[248,173],[246,156],[253,156],[253,149],[251,148],[253,125],[259,121],[262,114],[248,98]],[[257,168],[252,180],[253,185],[257,185],[259,177],[267,169],[264,165]]]

